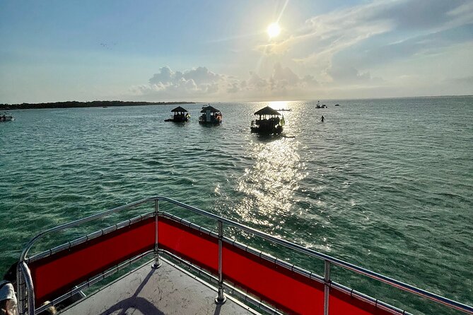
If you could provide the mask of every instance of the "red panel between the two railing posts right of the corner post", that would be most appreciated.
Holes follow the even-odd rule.
[[[223,278],[290,314],[323,314],[324,285],[231,244],[223,244]]]

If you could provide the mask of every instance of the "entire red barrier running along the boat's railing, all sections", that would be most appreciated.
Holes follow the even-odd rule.
[[[35,303],[40,305],[71,290],[108,268],[154,248],[155,218],[97,237],[30,264]],[[158,218],[161,249],[218,273],[218,239],[169,218]],[[223,242],[223,279],[251,292],[289,314],[322,315],[324,285]],[[387,315],[332,287],[329,314]]]

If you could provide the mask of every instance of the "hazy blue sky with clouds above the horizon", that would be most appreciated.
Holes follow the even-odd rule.
[[[472,94],[472,0],[0,0],[0,103]]]

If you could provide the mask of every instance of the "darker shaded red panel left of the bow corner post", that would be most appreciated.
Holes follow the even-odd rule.
[[[54,299],[90,277],[154,248],[155,219],[149,218],[34,261],[28,267],[35,305]]]

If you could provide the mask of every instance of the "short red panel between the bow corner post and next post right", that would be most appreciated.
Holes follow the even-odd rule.
[[[158,219],[158,244],[197,266],[218,272],[218,239],[168,218]]]

